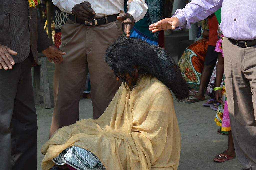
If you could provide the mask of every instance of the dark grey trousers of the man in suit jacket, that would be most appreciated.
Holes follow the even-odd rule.
[[[0,169],[37,169],[37,116],[31,56],[0,69]]]

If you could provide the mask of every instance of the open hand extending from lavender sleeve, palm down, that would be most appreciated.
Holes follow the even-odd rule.
[[[152,32],[157,32],[161,30],[175,29],[179,25],[179,19],[176,17],[165,18],[157,23],[151,24],[149,30]]]

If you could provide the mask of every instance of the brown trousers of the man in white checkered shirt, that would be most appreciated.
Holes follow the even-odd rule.
[[[104,61],[107,47],[122,34],[120,21],[87,26],[68,19],[62,28],[60,49],[64,62],[55,66],[54,101],[50,136],[59,128],[79,120],[88,71],[90,73],[93,119],[98,119],[122,84]]]

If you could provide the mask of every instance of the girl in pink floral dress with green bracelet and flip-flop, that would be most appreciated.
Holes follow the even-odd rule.
[[[218,65],[216,70],[216,87],[214,88],[214,90],[216,91],[215,92],[216,100],[220,104],[219,104],[219,108],[214,121],[216,122],[216,125],[221,127],[220,130],[222,134],[228,134],[228,149],[215,156],[214,160],[218,162],[224,162],[228,159],[232,159],[236,155],[231,128],[230,128],[228,100],[226,96],[225,81],[223,83],[223,86],[221,87],[222,77],[223,77],[223,80],[225,78],[225,75],[223,76],[224,74],[224,58],[223,58],[223,50],[222,50],[223,37],[224,36],[221,35],[221,39],[217,42],[216,49],[215,49],[215,51],[219,52],[219,57],[218,57]]]

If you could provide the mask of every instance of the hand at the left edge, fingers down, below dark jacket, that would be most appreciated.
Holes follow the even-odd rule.
[[[0,69],[4,68],[5,70],[12,69],[15,64],[13,57],[10,55],[17,55],[18,53],[9,47],[0,44]]]

